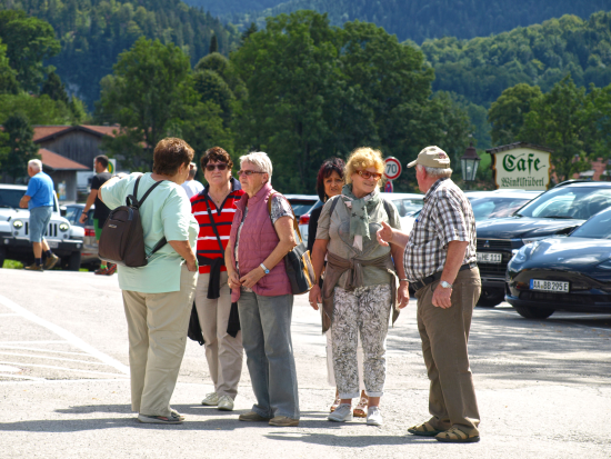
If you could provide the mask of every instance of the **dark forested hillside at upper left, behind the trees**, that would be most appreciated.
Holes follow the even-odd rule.
[[[212,36],[226,53],[239,39],[233,28],[180,0],[0,0],[0,9],[22,9],[51,23],[61,52],[47,63],[90,108],[100,80],[141,36],[176,43],[192,64],[208,54]]]

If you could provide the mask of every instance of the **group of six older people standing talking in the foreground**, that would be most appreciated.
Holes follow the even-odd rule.
[[[284,256],[296,247],[294,213],[271,184],[264,152],[240,158],[238,179],[220,147],[200,163],[207,186],[190,200],[181,190],[192,170],[193,150],[181,139],[159,142],[153,172],[144,173],[139,199],[148,250],[168,245],[141,268],[119,267],[129,328],[132,409],[141,422],[180,423],[170,398],[187,341],[194,301],[214,391],[202,400],[233,409],[243,351],[256,403],[240,421],[298,426],[298,379],[291,340],[293,293]],[[335,401],[329,420],[367,417],[383,423],[388,326],[418,299],[418,329],[431,381],[431,418],[411,427],[439,441],[479,441],[480,417],[467,342],[481,283],[475,263],[471,206],[452,182],[450,159],[428,147],[414,167],[424,207],[410,235],[380,193],[380,151],[359,148],[325,161],[317,178],[323,201],[310,219],[309,248],[315,282],[309,292],[321,310],[329,381]],[[98,192],[110,208],[133,193],[138,173],[111,178]],[[359,398],[355,408],[352,399]]]

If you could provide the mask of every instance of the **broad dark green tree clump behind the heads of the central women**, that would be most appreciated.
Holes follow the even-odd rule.
[[[422,53],[372,23],[339,29],[313,11],[280,14],[231,61],[249,93],[238,146],[267,151],[281,189],[313,190],[324,158],[361,144],[404,162],[425,144],[453,151],[468,140],[464,112],[449,97],[430,98],[433,71]]]

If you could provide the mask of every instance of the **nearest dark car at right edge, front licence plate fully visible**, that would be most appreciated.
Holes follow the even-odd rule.
[[[507,276],[507,301],[528,319],[544,319],[558,309],[611,312],[611,208],[569,237],[523,246]]]

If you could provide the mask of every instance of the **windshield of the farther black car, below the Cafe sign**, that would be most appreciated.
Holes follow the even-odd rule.
[[[560,187],[515,212],[519,217],[588,220],[611,206],[611,188]]]

